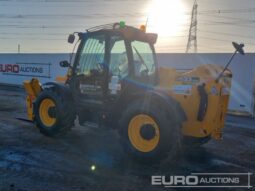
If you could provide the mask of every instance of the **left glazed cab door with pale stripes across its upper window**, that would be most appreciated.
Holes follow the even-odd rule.
[[[88,109],[103,106],[107,93],[106,36],[93,34],[80,47],[76,75],[79,78],[77,99]]]

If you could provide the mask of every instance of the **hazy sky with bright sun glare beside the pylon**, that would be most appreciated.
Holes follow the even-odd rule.
[[[157,52],[185,52],[193,0],[0,0],[0,53],[71,52],[69,33],[124,20],[157,32]],[[197,0],[198,52],[255,52],[255,0]],[[191,49],[190,52],[193,50]]]

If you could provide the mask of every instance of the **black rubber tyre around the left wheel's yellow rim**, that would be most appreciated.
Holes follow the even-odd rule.
[[[55,122],[49,126],[45,125],[40,116],[40,106],[46,99],[51,100],[55,104],[55,107],[52,107],[54,110],[52,115],[54,116],[51,116],[51,118],[55,119]],[[74,126],[76,117],[71,96],[57,91],[54,87],[44,89],[36,98],[34,102],[34,115],[36,126],[40,129],[40,132],[51,137],[70,130]]]

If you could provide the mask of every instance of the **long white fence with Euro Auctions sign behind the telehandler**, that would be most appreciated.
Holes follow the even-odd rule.
[[[231,54],[158,54],[159,66],[177,70],[191,70],[201,64],[224,66]],[[55,81],[65,75],[67,69],[59,62],[69,60],[69,54],[0,54],[0,83],[22,85],[22,82],[37,77],[42,83]],[[229,109],[253,114],[255,87],[255,54],[236,55],[230,69],[233,83]]]

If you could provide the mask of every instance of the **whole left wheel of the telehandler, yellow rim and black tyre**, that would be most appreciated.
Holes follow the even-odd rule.
[[[75,120],[71,97],[55,88],[44,89],[34,103],[35,123],[40,132],[54,136],[68,131]]]

